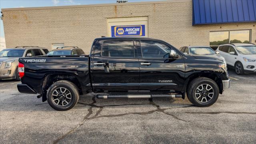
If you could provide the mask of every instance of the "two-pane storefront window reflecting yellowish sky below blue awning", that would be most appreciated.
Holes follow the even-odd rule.
[[[210,32],[210,46],[229,43],[250,43],[250,30]]]

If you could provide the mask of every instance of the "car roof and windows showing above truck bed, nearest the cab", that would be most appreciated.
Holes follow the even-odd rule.
[[[84,51],[77,46],[62,46],[48,52],[47,56],[83,55]]]

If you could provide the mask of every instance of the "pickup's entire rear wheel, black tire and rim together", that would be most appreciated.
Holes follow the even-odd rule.
[[[66,91],[66,92],[64,92],[64,93],[66,93],[67,94],[67,92],[70,92],[71,93],[71,95],[69,95],[69,97],[70,97],[70,99],[68,99],[67,97],[68,96],[66,96],[65,94],[64,94],[64,96],[62,97],[62,98],[66,98],[65,100],[66,100],[66,102],[65,102],[65,100],[61,100],[60,99],[60,95],[61,94],[63,94],[62,92],[61,92],[61,90],[63,90],[63,88],[64,88],[64,90]],[[56,91],[58,92],[58,94],[56,93]],[[60,91],[59,91],[60,90]],[[58,95],[58,96],[54,96],[54,95]],[[68,93],[69,94],[69,93]],[[54,101],[54,99],[56,99],[56,98],[58,98],[58,100],[56,101]],[[70,100],[70,101],[68,101],[68,100]],[[59,110],[59,111],[66,111],[66,110],[70,110],[71,108],[73,108],[76,104],[77,104],[77,102],[78,102],[78,100],[79,100],[79,92],[78,92],[78,88],[76,87],[76,85],[75,84],[73,84],[72,82],[70,82],[70,81],[68,81],[68,80],[60,80],[60,81],[57,81],[57,82],[54,82],[51,86],[50,86],[50,88],[48,89],[48,91],[47,91],[47,101],[48,101],[48,104],[52,107],[52,108],[54,108],[55,110]],[[68,101],[68,103],[67,103],[67,101]],[[55,102],[62,102],[61,104],[63,105],[63,104],[66,104],[65,106],[61,106],[60,105],[60,103],[58,103],[58,104],[56,104]]]

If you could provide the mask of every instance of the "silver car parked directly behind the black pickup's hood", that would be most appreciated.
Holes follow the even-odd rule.
[[[180,51],[184,54],[195,54],[195,55],[205,55],[213,58],[221,58],[224,62],[225,58],[219,54],[219,52],[215,52],[209,46],[183,46],[180,48]]]

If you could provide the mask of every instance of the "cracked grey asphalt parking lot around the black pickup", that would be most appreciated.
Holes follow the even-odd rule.
[[[256,143],[256,74],[229,75],[230,89],[207,108],[88,94],[65,112],[0,81],[0,143]]]

